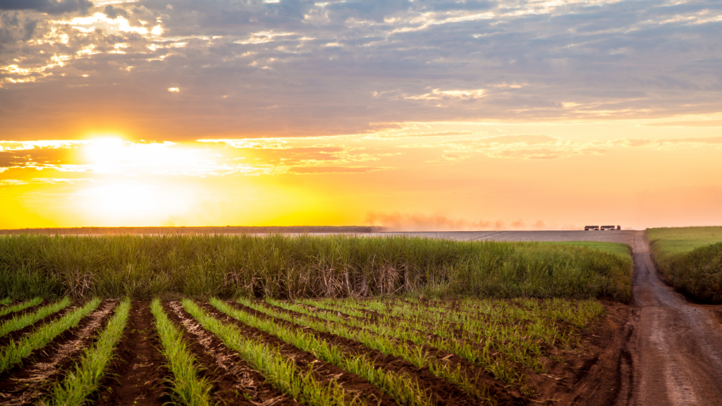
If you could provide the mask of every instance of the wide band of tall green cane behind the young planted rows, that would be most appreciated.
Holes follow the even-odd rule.
[[[631,263],[578,247],[393,236],[5,236],[0,297],[630,297]]]

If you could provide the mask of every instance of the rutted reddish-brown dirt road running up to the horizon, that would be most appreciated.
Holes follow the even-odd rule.
[[[659,279],[643,232],[633,246],[634,301],[628,405],[722,405],[721,306],[698,306]]]

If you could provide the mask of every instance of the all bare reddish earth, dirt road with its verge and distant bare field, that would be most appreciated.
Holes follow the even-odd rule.
[[[721,405],[722,306],[690,303],[664,284],[643,231],[483,231],[379,233],[462,241],[626,243],[634,259],[636,316],[617,327],[609,347],[578,384],[575,405]],[[615,384],[610,383],[614,376]],[[609,392],[617,392],[610,397]]]

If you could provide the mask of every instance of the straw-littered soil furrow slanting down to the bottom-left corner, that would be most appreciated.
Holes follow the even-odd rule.
[[[105,301],[85,316],[78,327],[66,330],[51,344],[31,355],[30,359],[35,359],[35,363],[8,371],[8,376],[0,380],[0,405],[29,405],[45,394],[54,383],[61,381],[82,350],[92,343],[96,333],[110,319],[117,304],[118,301]]]

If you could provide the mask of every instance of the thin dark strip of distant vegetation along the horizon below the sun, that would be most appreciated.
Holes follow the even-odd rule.
[[[45,234],[55,235],[137,235],[137,234],[310,234],[310,233],[377,233],[383,228],[362,225],[294,225],[289,227],[246,227],[226,225],[224,227],[74,227],[74,228],[18,228],[0,230],[0,234]]]

